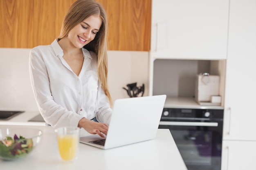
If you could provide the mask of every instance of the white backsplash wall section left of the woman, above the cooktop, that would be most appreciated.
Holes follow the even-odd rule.
[[[0,109],[38,110],[29,81],[29,50],[0,48]]]

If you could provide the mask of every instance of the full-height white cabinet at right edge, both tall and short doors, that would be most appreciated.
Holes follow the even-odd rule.
[[[230,0],[222,170],[256,170],[255,9]]]

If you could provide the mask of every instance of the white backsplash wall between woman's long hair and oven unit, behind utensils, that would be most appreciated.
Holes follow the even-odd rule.
[[[108,81],[113,101],[128,98],[127,84],[145,84],[143,96],[148,96],[148,55],[149,52],[108,51]]]

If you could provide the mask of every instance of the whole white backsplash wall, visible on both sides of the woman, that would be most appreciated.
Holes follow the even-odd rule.
[[[0,109],[38,110],[32,92],[25,48],[0,48]],[[108,81],[113,101],[128,98],[122,87],[145,84],[148,95],[148,52],[108,51]]]

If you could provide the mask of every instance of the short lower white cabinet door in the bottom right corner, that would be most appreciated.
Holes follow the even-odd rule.
[[[221,170],[256,170],[256,141],[224,141]]]

